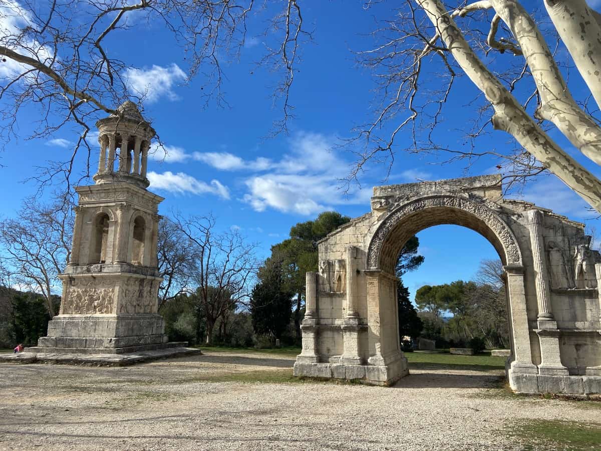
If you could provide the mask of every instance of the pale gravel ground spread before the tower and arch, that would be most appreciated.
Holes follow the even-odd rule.
[[[212,352],[135,367],[0,364],[0,449],[517,450],[514,420],[601,423],[578,402],[505,396],[491,388],[498,371],[412,370],[392,388],[218,381],[293,362]]]

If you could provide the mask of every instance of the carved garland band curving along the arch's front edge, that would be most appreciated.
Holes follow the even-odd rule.
[[[451,207],[460,209],[476,216],[489,227],[502,244],[507,256],[507,263],[521,263],[522,256],[513,233],[508,229],[497,213],[487,207],[483,202],[477,202],[462,197],[436,195],[410,201],[398,209],[392,210],[390,215],[380,224],[367,253],[368,268],[378,268],[382,246],[392,229],[402,221],[404,216],[419,210],[432,207]]]

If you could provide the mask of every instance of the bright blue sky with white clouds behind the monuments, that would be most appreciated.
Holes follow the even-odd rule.
[[[534,2],[524,4],[528,7]],[[133,17],[132,24],[138,27],[135,41],[130,41],[130,32],[117,32],[108,41],[109,51],[135,67],[129,72],[132,90],[148,92],[144,114],[165,143],[166,155],[157,150],[154,156],[159,161],[151,162],[148,169],[150,189],[166,197],[160,213],[212,212],[219,227],[239,228],[267,256],[270,245],[286,238],[291,225],[313,219],[323,210],[335,209],[352,217],[367,212],[374,185],[494,172],[495,162],[490,160],[477,162],[466,172],[461,164],[440,165],[432,156],[400,153],[388,182],[383,180],[386,168],[371,165],[361,177],[360,188],[351,185],[349,192],[343,192],[340,179],[348,173],[353,156],[336,145],[340,138],[349,137],[353,126],[371,117],[373,87],[370,73],[357,67],[351,50],[368,47],[365,34],[373,28],[373,21],[361,2],[307,2],[303,7],[305,21],[313,24],[314,43],[303,49],[291,91],[296,118],[290,122],[290,134],[273,138],[267,136],[281,111],[273,108],[270,95],[273,75],[255,64],[266,39],[258,36],[259,28],[249,29],[240,60],[230,58],[224,64],[227,78],[222,90],[227,105],[221,106],[204,105],[202,75],[186,82],[185,55],[159,23]],[[579,89],[576,80],[576,96]],[[469,82],[460,82],[451,99],[456,106],[446,110],[442,126],[449,140],[458,139],[456,130],[465,127],[469,117],[469,107],[462,100],[475,93]],[[35,111],[30,114],[20,123],[23,135],[28,119],[35,119]],[[45,140],[21,139],[6,146],[0,155],[4,165],[0,186],[5,194],[0,215],[14,215],[22,198],[36,188],[35,183],[23,181],[36,166],[65,159],[76,137],[77,130],[64,129]],[[599,176],[599,168],[570,150],[558,133],[553,137]],[[498,149],[510,145],[510,137],[502,132],[481,141],[481,146]],[[554,177],[541,177],[514,195],[572,219],[593,217],[584,201]],[[596,221],[589,222],[594,225]],[[484,238],[460,227],[434,227],[419,238],[426,263],[405,277],[412,293],[422,284],[471,278],[481,259],[496,256]],[[457,255],[462,256],[462,265],[449,258]]]

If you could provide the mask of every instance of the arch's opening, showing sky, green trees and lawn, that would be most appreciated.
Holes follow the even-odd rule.
[[[395,268],[399,344],[409,369],[428,373],[433,383],[450,383],[449,376],[474,387],[494,382],[504,373],[511,346],[498,251],[481,233],[458,225],[426,227],[416,241],[414,256],[423,256],[423,263],[404,272]],[[487,367],[490,374],[472,374],[469,381],[460,374]]]

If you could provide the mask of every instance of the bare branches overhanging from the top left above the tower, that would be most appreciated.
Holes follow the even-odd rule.
[[[188,62],[188,78],[203,78],[207,99],[222,99],[223,63],[237,57],[246,40],[251,13],[261,19],[255,0],[0,0],[0,137],[17,137],[20,120],[31,123],[38,110],[32,138],[51,135],[76,124],[81,130],[72,153],[46,168],[46,183],[58,174],[69,180],[81,149],[90,175],[90,129],[100,115],[119,114],[126,98],[139,103],[147,93],[129,90],[128,61],[120,60],[111,38],[136,41],[142,27],[163,26]],[[263,3],[263,2],[261,2]],[[281,76],[274,95],[282,102],[285,122],[291,115],[290,87],[297,64],[297,48],[309,37],[297,0],[267,0],[270,11],[280,11],[267,22],[266,53],[262,64]],[[227,60],[226,60],[227,61]],[[204,89],[204,88],[207,89]]]

